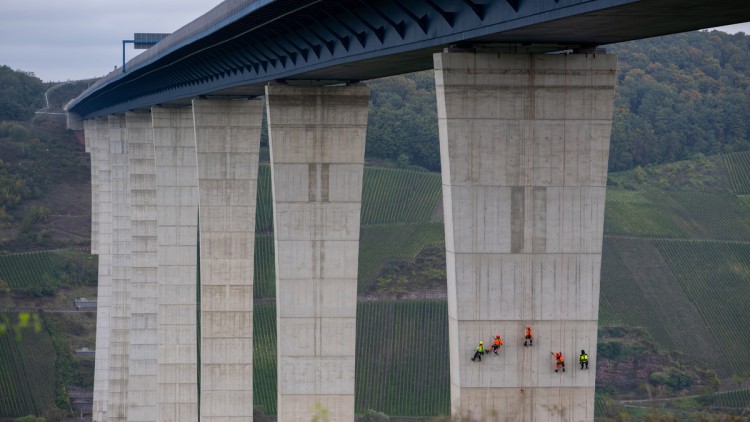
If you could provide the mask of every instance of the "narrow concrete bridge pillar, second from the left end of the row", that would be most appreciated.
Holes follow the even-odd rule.
[[[125,116],[108,116],[112,202],[112,293],[107,418],[127,421],[130,341],[130,188]]]

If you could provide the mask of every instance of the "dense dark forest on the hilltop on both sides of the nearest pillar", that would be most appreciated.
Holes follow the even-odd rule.
[[[750,149],[750,36],[696,31],[606,49],[618,56],[610,171]],[[370,83],[366,156],[438,171],[432,72]]]

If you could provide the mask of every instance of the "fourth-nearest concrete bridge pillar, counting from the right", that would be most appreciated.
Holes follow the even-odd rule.
[[[151,109],[156,165],[158,421],[198,420],[198,175],[190,108]]]

